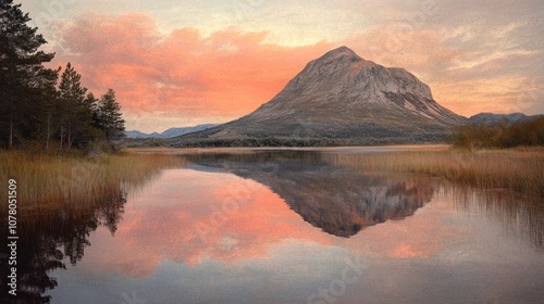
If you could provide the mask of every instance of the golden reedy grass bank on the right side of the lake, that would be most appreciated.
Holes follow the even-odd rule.
[[[329,154],[331,162],[364,170],[444,177],[485,189],[506,188],[544,198],[544,148],[481,151],[413,151],[374,155]]]

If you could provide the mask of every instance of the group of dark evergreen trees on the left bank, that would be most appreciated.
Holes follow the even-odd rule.
[[[38,50],[46,40],[29,21],[21,4],[0,0],[0,147],[65,151],[123,137],[115,92],[97,99],[70,63],[45,67],[54,53]]]

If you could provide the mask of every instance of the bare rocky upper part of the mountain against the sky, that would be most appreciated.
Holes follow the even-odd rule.
[[[331,50],[309,62],[272,102],[309,94],[327,96],[330,100],[357,99],[360,103],[387,103],[393,94],[394,99],[403,94],[433,99],[429,86],[411,73],[363,60],[347,47]]]

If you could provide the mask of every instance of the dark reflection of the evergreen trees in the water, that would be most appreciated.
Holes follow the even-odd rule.
[[[17,223],[17,295],[8,294],[3,280],[9,275],[7,259],[2,258],[1,303],[49,303],[50,296],[42,295],[57,287],[57,280],[48,273],[65,268],[64,258],[72,265],[81,261],[85,249],[90,245],[90,232],[106,226],[112,233],[122,219],[125,194],[119,189],[104,197],[99,203],[64,204],[60,210],[41,211],[18,218]],[[28,216],[26,216],[28,215]],[[1,227],[8,225],[2,224]],[[7,229],[1,229],[2,240]],[[5,252],[2,246],[2,255]]]

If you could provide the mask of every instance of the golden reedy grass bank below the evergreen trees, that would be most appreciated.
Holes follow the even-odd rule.
[[[127,188],[143,185],[162,168],[184,164],[183,159],[169,155],[121,154],[89,159],[0,151],[0,188],[7,193],[8,180],[15,179],[20,207],[94,203],[122,195]]]

